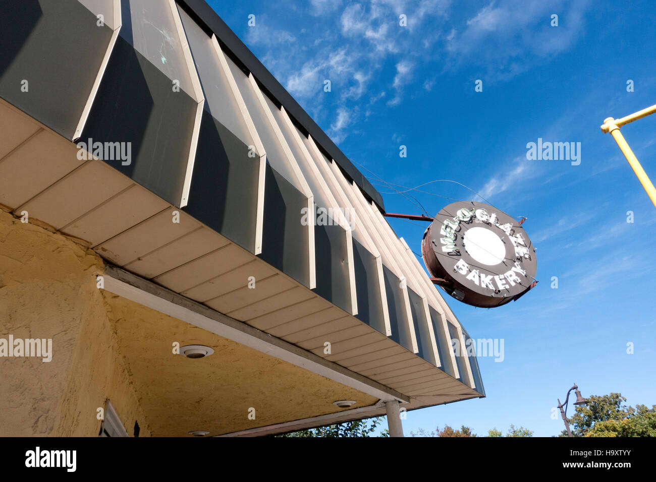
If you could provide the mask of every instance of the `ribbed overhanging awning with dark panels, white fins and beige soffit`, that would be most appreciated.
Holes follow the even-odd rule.
[[[205,2],[24,1],[0,27],[6,211],[407,409],[485,395],[380,194]]]

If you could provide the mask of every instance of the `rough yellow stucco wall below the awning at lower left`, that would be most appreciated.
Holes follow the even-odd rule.
[[[104,300],[102,259],[0,211],[0,338],[52,338],[52,361],[0,357],[0,435],[96,436],[109,398],[133,434],[148,422]]]

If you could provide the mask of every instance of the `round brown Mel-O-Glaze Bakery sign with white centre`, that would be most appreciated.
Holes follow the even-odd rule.
[[[433,281],[472,306],[501,306],[537,283],[535,248],[520,222],[486,204],[459,201],[438,212],[422,254]]]

